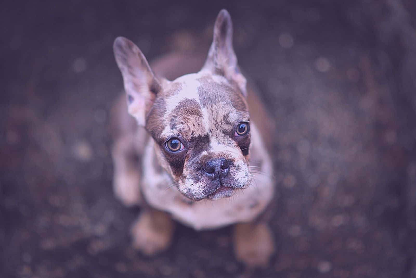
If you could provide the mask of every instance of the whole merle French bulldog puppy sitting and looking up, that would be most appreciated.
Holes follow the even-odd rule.
[[[246,86],[232,37],[221,10],[205,63],[171,53],[153,70],[133,42],[114,41],[126,92],[111,116],[114,192],[142,206],[131,235],[144,254],[169,246],[172,219],[196,230],[233,224],[235,255],[248,266],[267,265],[274,252],[262,218],[274,194],[273,124]]]

